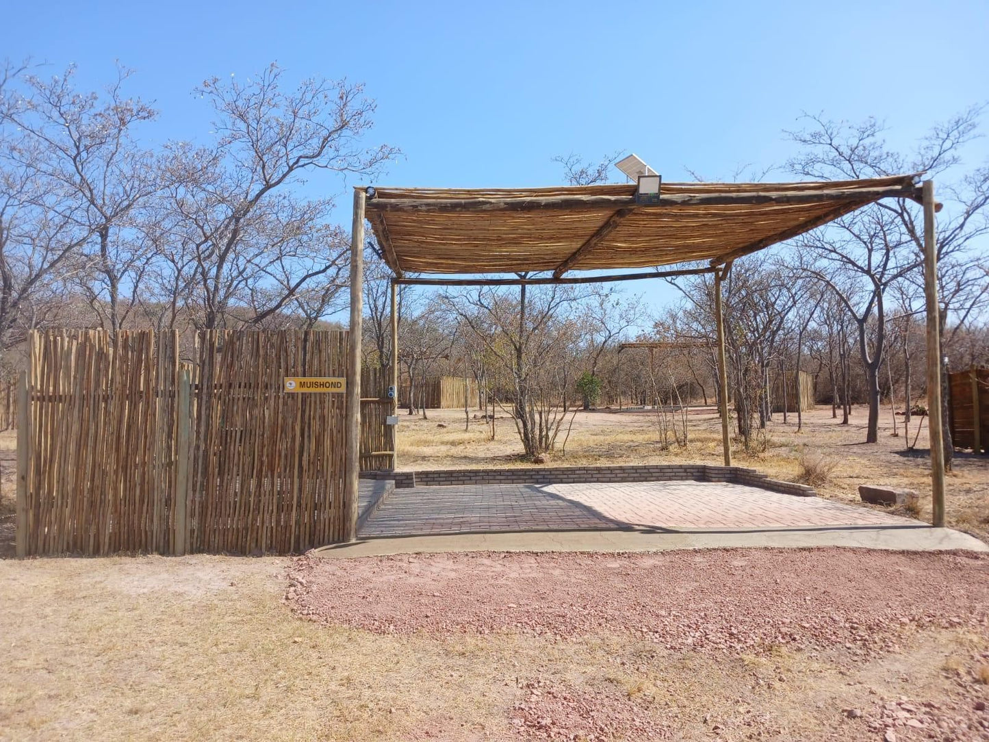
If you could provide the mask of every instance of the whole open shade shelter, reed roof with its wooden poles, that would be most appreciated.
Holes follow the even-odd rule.
[[[938,249],[934,182],[920,173],[854,181],[799,183],[673,183],[649,204],[637,203],[633,186],[457,190],[355,188],[351,257],[350,383],[360,390],[360,307],[365,249],[364,221],[374,230],[392,279],[392,357],[399,357],[396,285],[506,285],[604,282],[685,275],[714,275],[722,448],[731,465],[728,376],[721,284],[738,257],[839,219],[884,198],[911,199],[924,207],[924,286],[928,325],[933,523],[944,526],[944,451],[941,430]],[[662,266],[701,262],[702,267],[662,271]],[[704,261],[707,261],[706,265]],[[643,268],[640,274],[563,274],[577,269]],[[408,278],[405,272],[516,273],[514,279]],[[533,272],[552,271],[543,278]],[[651,275],[650,275],[651,274]],[[521,293],[524,296],[524,292]],[[356,322],[355,322],[356,312]],[[398,367],[393,363],[393,369]],[[349,389],[349,387],[348,387]],[[359,395],[358,395],[359,396]],[[393,408],[394,409],[394,408]],[[360,422],[359,405],[347,411]],[[394,440],[394,439],[393,439]],[[395,454],[393,453],[393,461]],[[346,502],[355,508],[357,464],[348,457]],[[356,525],[356,518],[351,520]],[[356,538],[356,527],[347,533]]]

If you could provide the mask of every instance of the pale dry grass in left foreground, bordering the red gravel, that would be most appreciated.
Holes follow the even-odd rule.
[[[292,616],[284,564],[0,563],[0,738],[408,739],[451,717],[477,731],[486,696],[500,707],[441,644]]]

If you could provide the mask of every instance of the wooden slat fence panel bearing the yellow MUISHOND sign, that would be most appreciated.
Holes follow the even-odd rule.
[[[286,394],[344,376],[345,332],[201,334],[189,550],[289,553],[343,537],[345,398]]]

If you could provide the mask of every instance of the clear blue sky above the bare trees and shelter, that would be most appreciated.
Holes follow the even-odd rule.
[[[635,151],[666,180],[781,165],[802,111],[875,116],[899,147],[989,100],[989,3],[3,3],[0,54],[129,90],[161,111],[148,140],[209,138],[191,89],[277,60],[290,78],[363,81],[369,143],[400,146],[382,184],[534,186],[556,154]],[[989,127],[985,128],[989,131]],[[971,165],[989,143],[966,154]],[[785,180],[785,173],[768,179]],[[346,185],[352,185],[353,182]],[[310,187],[343,193],[314,178]],[[338,218],[349,222],[349,199]],[[653,282],[652,283],[659,283]],[[652,305],[671,289],[638,284]]]

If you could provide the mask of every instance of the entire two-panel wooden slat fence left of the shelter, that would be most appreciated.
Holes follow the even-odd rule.
[[[343,536],[337,331],[32,336],[21,395],[18,553],[289,553]],[[23,445],[22,445],[23,443]],[[23,480],[23,481],[22,481]],[[22,517],[23,513],[23,517]]]

